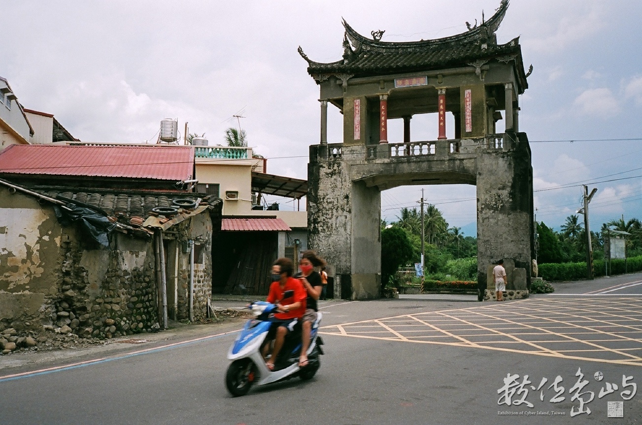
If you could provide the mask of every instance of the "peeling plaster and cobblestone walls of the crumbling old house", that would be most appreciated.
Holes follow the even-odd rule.
[[[204,317],[211,296],[211,219],[202,213],[174,227],[177,238],[205,241],[194,304],[195,316]],[[114,232],[110,246],[87,249],[73,226],[60,226],[53,206],[0,187],[0,331],[66,325],[99,338],[151,331],[159,321],[152,239]],[[186,261],[189,279],[189,256]]]

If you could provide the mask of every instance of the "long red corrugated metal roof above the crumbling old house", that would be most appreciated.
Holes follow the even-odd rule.
[[[189,180],[192,146],[12,145],[0,153],[0,172]]]

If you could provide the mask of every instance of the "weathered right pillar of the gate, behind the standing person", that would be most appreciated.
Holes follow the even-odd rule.
[[[489,271],[499,260],[508,270],[508,299],[528,296],[534,247],[533,169],[526,133],[503,135],[503,147],[480,153],[477,165],[477,271],[485,300],[495,299]]]

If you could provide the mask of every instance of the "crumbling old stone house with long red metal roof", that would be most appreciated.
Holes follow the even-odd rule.
[[[0,327],[114,337],[209,313],[221,201],[189,146],[0,153]]]

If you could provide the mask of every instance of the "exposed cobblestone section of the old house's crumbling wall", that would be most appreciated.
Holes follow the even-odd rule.
[[[96,253],[83,250],[77,240],[62,242],[59,290],[48,299],[46,326],[98,338],[151,331],[158,321],[153,251],[151,242],[137,244],[141,251]],[[96,256],[105,267],[102,278],[87,264]]]

